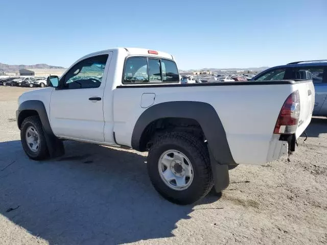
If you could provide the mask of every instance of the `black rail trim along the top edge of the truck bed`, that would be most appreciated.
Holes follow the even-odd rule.
[[[216,82],[216,83],[186,83],[186,84],[141,84],[141,85],[119,85],[116,88],[165,88],[165,87],[202,87],[202,86],[245,86],[245,85],[281,85],[281,84],[298,84],[312,82],[312,80],[278,80],[278,81],[249,81],[249,82]]]

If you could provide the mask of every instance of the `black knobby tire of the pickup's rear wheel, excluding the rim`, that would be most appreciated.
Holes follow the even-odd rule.
[[[194,176],[192,184],[187,189],[174,190],[161,179],[158,161],[161,154],[167,150],[179,151],[189,158]],[[149,151],[147,167],[154,188],[162,197],[175,204],[192,204],[205,197],[214,185],[206,145],[188,133],[171,132],[157,137]]]

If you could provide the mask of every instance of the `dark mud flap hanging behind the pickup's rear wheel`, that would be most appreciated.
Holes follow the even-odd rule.
[[[229,185],[228,165],[219,164],[213,157],[211,151],[209,149],[208,151],[210,155],[210,164],[215,183],[215,190],[217,193],[219,193],[226,189]]]

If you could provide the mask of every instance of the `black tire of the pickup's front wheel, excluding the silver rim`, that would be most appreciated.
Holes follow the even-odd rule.
[[[39,148],[37,152],[30,150],[26,141],[26,130],[28,127],[34,127],[39,135]],[[46,145],[42,122],[38,116],[29,116],[22,121],[20,128],[20,141],[26,155],[33,160],[44,160],[49,157],[48,146]]]

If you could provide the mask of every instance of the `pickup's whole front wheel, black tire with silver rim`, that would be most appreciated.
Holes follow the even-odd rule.
[[[38,116],[29,116],[24,119],[20,129],[20,141],[29,158],[43,160],[49,156],[42,123]]]

